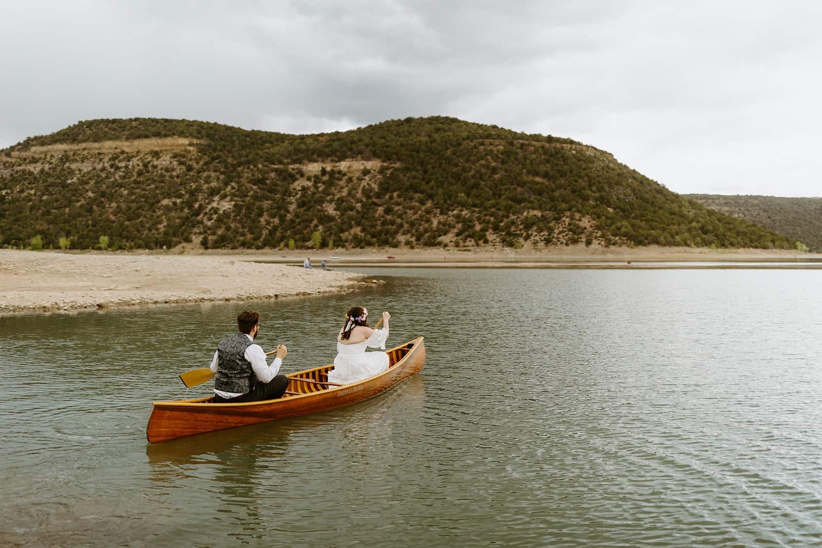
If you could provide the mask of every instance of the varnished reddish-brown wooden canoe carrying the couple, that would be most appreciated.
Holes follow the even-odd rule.
[[[292,380],[289,382],[288,392],[282,398],[262,402],[213,403],[214,397],[210,396],[153,402],[145,435],[150,443],[159,443],[187,435],[296,417],[359,402],[390,389],[423,369],[423,337],[386,350],[386,354],[389,363],[386,371],[350,385],[328,385],[328,372],[334,368],[333,365],[328,365],[286,375]]]

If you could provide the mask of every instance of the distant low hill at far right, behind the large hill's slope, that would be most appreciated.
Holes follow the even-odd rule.
[[[705,207],[761,224],[822,251],[822,198],[688,194]]]

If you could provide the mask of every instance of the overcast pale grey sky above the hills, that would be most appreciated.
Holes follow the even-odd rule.
[[[0,0],[0,148],[80,120],[570,137],[673,191],[822,196],[822,2]]]

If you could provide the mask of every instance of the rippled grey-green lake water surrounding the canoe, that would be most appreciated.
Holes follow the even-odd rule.
[[[0,544],[819,546],[820,270],[363,269],[336,297],[0,318]],[[424,335],[347,408],[146,444],[239,310],[284,372]]]

